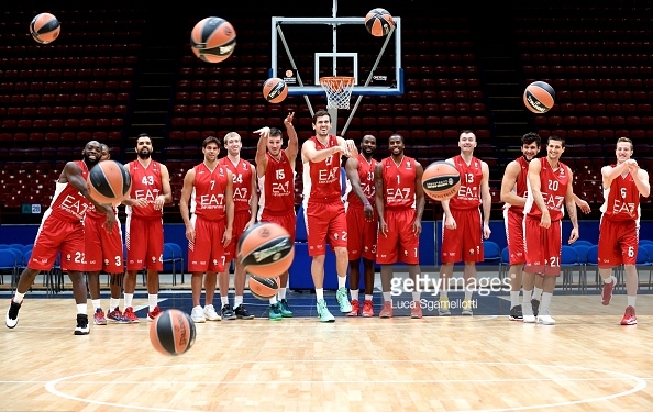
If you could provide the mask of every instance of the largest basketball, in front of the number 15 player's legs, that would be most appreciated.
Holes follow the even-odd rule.
[[[237,244],[237,255],[245,270],[254,276],[276,278],[288,270],[295,257],[290,234],[276,223],[256,223]]]

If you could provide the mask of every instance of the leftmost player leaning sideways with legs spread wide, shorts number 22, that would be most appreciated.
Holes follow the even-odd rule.
[[[34,248],[27,267],[21,274],[15,293],[9,304],[4,322],[7,327],[13,329],[19,321],[19,311],[23,298],[32,287],[41,270],[51,270],[60,254],[62,270],[68,272],[73,282],[73,296],[77,303],[76,335],[88,335],[86,282],[84,271],[84,216],[92,204],[106,216],[107,231],[112,232],[115,214],[111,205],[95,201],[88,191],[88,171],[100,162],[102,148],[100,143],[90,141],[84,146],[82,160],[68,162],[56,182],[56,190],[49,208],[43,214],[38,234],[34,240]]]

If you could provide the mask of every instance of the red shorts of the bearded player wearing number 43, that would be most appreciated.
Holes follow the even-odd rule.
[[[163,219],[128,218],[124,244],[128,270],[163,271]]]

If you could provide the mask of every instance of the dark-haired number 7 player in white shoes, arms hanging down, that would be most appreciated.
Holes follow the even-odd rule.
[[[222,319],[215,312],[213,297],[217,274],[223,272],[225,267],[224,249],[232,242],[234,201],[233,175],[218,162],[220,145],[215,136],[204,138],[204,162],[186,172],[179,199],[188,240],[188,271],[191,274],[190,318],[196,323]],[[200,305],[203,274],[204,308]]]

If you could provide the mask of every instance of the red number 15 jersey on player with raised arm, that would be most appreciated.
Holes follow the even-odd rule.
[[[278,160],[269,153],[265,155],[267,168],[265,175],[258,178],[258,205],[262,213],[286,214],[295,211],[295,172],[286,152],[280,152]]]

